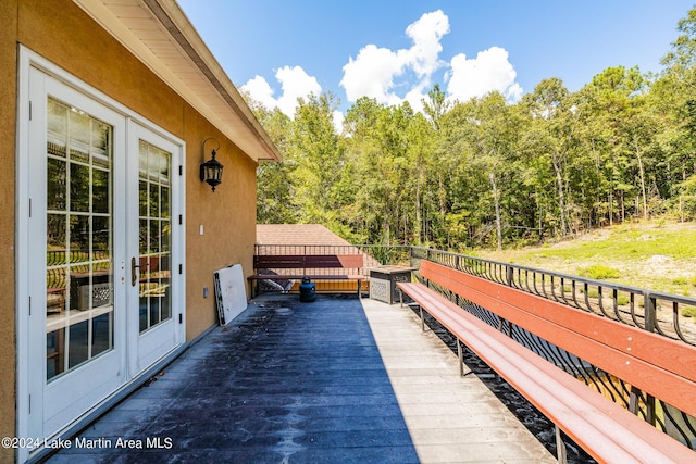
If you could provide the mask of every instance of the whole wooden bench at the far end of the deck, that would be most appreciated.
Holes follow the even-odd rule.
[[[259,280],[350,280],[356,281],[358,297],[362,296],[363,254],[257,254],[253,256],[253,268],[257,274],[248,278],[251,297],[254,296],[254,283]],[[284,269],[276,274],[262,274],[261,269]],[[257,284],[258,285],[258,284]]]

